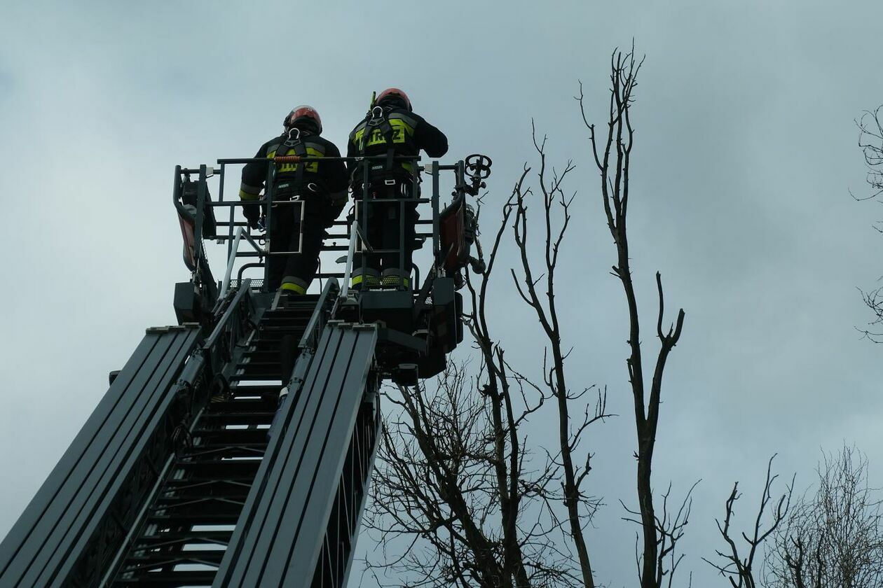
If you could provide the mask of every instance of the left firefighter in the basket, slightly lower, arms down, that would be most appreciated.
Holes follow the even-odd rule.
[[[309,106],[298,106],[285,117],[285,131],[260,145],[255,158],[340,157],[336,145],[320,137],[319,113]],[[280,288],[283,294],[305,294],[319,264],[319,250],[326,229],[343,210],[347,200],[348,176],[343,161],[276,161],[273,203],[269,213],[270,253],[267,290]],[[239,197],[260,199],[267,178],[267,163],[252,161],[242,170]],[[266,210],[266,209],[265,209]],[[261,206],[243,205],[248,226],[258,227]],[[289,255],[274,252],[294,251]]]

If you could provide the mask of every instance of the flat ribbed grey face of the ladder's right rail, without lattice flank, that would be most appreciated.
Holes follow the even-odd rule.
[[[284,406],[283,424],[291,424],[274,437],[275,452],[268,451],[267,488],[255,509],[258,516],[243,530],[239,551],[228,549],[215,588],[310,585],[376,341],[373,324],[355,330],[325,327],[321,356],[313,361],[301,393]]]

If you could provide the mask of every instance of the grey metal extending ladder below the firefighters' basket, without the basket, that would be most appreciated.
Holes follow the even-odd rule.
[[[271,309],[246,280],[208,336],[148,330],[0,543],[0,586],[343,586],[380,378],[374,325],[328,321],[338,290]]]

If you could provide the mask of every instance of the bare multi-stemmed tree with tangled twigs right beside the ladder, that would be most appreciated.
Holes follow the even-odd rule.
[[[547,167],[545,140],[534,137],[534,146],[537,192],[525,167],[502,207],[487,271],[478,282],[467,281],[472,309],[466,322],[478,367],[452,366],[434,389],[388,395],[398,417],[386,422],[367,517],[368,528],[392,554],[368,564],[378,582],[387,568],[396,573],[392,585],[402,585],[403,576],[413,586],[596,585],[583,532],[599,501],[583,489],[590,454],[579,445],[592,423],[610,415],[604,391],[587,386],[573,392],[565,376],[568,352],[555,308],[555,269],[570,221],[562,182],[573,167],[567,163],[555,172]],[[544,227],[540,278],[528,244],[533,200]],[[521,262],[511,277],[538,317],[547,346],[537,381],[509,364],[487,317],[488,287],[506,234]],[[527,443],[524,425],[539,411],[557,415],[554,449]],[[559,532],[562,540],[555,538]]]

